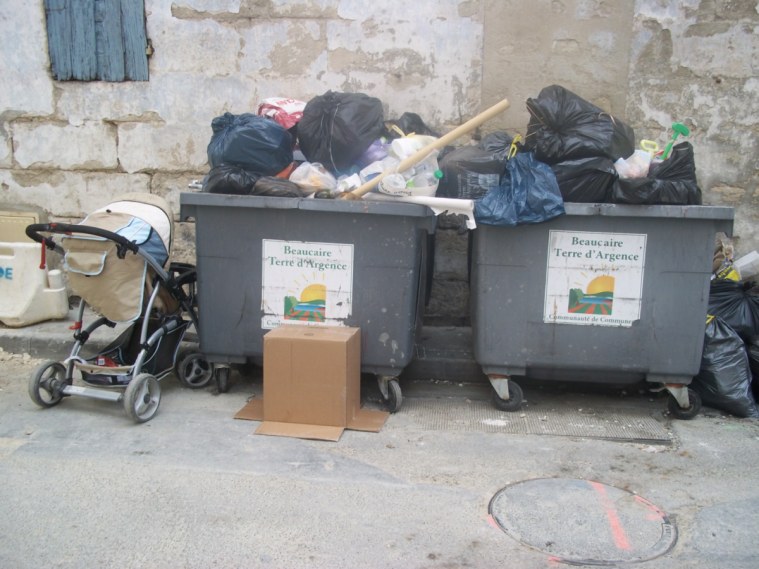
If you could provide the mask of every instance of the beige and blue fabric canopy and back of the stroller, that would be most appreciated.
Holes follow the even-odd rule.
[[[140,254],[119,259],[117,243],[111,239],[73,233],[61,240],[72,291],[109,320],[136,320],[155,276],[146,257],[164,268],[169,262],[173,215],[168,203],[153,194],[127,194],[79,225],[110,231],[139,246]]]

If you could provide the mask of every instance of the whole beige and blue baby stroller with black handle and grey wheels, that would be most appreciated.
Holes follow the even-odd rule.
[[[66,396],[122,403],[137,423],[153,418],[161,401],[158,380],[176,371],[190,388],[205,387],[213,366],[199,352],[178,360],[190,325],[198,330],[195,267],[169,263],[173,236],[171,209],[153,194],[127,194],[88,215],[79,224],[27,226],[26,234],[63,255],[74,295],[80,297],[74,346],[63,362],[49,361],[29,381],[29,396],[52,407]],[[52,235],[59,235],[57,243]],[[85,307],[97,318],[83,326]],[[92,333],[127,324],[100,353],[81,357]],[[74,385],[79,372],[85,386]]]

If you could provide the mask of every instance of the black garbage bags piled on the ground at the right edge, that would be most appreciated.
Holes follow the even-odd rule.
[[[713,268],[701,369],[691,388],[710,407],[759,418],[759,264],[734,261],[730,240],[719,235]]]

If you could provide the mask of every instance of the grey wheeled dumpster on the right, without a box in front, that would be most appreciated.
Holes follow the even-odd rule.
[[[627,383],[670,393],[695,416],[715,235],[733,209],[567,203],[566,214],[474,230],[474,357],[504,410],[522,403],[521,376]]]

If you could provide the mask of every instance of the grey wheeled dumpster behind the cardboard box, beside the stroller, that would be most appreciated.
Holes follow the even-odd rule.
[[[407,203],[184,192],[195,220],[200,349],[226,390],[230,364],[263,360],[280,324],[361,328],[361,369],[391,411],[413,357],[435,217]]]

